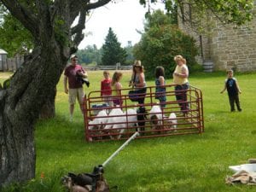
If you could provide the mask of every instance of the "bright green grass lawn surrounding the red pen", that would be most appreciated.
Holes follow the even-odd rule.
[[[111,72],[113,74],[113,72]],[[256,157],[256,73],[236,73],[241,87],[241,113],[230,113],[228,96],[220,94],[225,73],[194,73],[190,84],[203,93],[205,132],[184,135],[137,139],[125,147],[105,168],[104,176],[110,186],[119,192],[229,192],[253,191],[253,186],[224,183],[231,175],[228,166],[247,163]],[[0,73],[0,82],[3,82]],[[102,72],[89,72],[90,89],[100,89]],[[122,79],[128,86],[130,73]],[[172,83],[172,79],[166,79]],[[148,81],[154,85],[154,81]],[[73,122],[69,122],[67,95],[62,79],[57,85],[56,117],[40,120],[36,125],[37,170],[36,178],[24,185],[4,191],[65,191],[61,177],[67,172],[91,172],[102,164],[124,143],[110,141],[86,143],[84,120],[75,108]],[[44,172],[43,184],[40,174]],[[114,190],[113,190],[114,191]]]

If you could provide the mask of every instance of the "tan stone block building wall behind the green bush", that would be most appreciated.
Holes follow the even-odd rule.
[[[256,13],[256,1],[253,3]],[[190,12],[190,11],[189,11]],[[188,12],[188,13],[189,13]],[[195,32],[189,22],[178,19],[178,26],[183,32],[193,36],[200,47],[197,61],[205,69],[226,70],[232,68],[239,72],[256,71],[256,16],[247,26],[234,27],[224,25],[209,16],[207,30],[200,34]],[[210,63],[211,66],[208,66]]]

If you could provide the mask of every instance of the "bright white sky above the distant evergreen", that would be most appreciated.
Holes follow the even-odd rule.
[[[152,9],[164,9],[164,4],[151,4]],[[105,42],[108,28],[112,27],[122,47],[131,41],[137,44],[141,35],[137,32],[143,31],[144,15],[148,8],[144,8],[139,0],[117,0],[116,3],[108,3],[106,6],[94,9],[87,17],[84,40],[79,44],[79,49],[87,45],[96,44],[100,49]]]

